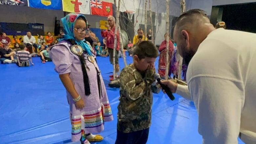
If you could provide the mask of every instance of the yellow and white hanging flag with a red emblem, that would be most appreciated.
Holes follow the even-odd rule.
[[[89,0],[62,0],[63,11],[90,14]]]

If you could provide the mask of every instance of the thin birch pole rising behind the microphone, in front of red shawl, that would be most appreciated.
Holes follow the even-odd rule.
[[[169,73],[169,0],[166,0],[166,49],[165,49],[165,80]]]

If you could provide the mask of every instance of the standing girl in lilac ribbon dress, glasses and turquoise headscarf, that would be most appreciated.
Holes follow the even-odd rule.
[[[90,133],[103,131],[104,121],[112,121],[113,116],[95,55],[90,51],[90,44],[84,42],[87,21],[84,15],[76,13],[68,14],[61,21],[65,35],[51,48],[50,56],[67,90],[72,141],[81,139],[86,144],[89,144],[86,139],[100,141],[102,136]]]

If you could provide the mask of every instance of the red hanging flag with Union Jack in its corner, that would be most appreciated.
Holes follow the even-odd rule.
[[[109,16],[113,15],[112,3],[100,1],[100,0],[90,0],[91,14],[99,16]]]

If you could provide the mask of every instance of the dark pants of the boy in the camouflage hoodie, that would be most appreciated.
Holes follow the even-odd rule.
[[[149,128],[137,132],[123,133],[117,130],[115,144],[146,144],[148,141]]]

